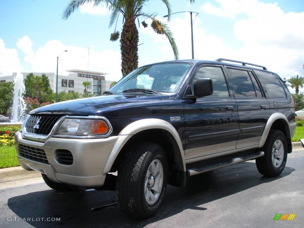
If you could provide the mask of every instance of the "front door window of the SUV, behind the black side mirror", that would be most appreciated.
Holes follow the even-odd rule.
[[[193,78],[191,86],[198,78],[211,78],[213,94],[207,97],[229,97],[227,83],[221,67],[201,67]]]

